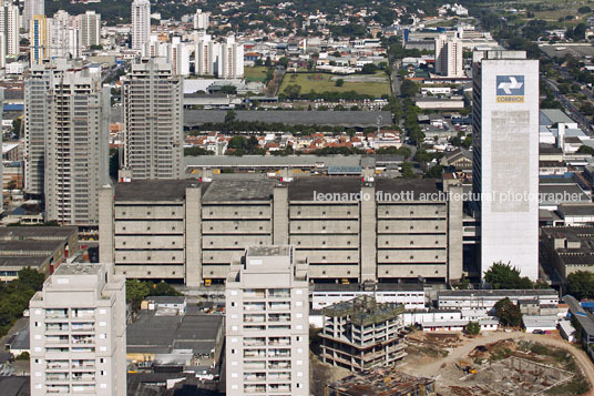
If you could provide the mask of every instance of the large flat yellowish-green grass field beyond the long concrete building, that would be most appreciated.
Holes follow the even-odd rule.
[[[365,81],[372,79],[371,81]],[[345,80],[342,87],[336,87],[336,80]],[[355,81],[351,81],[355,80]],[[358,81],[357,81],[358,80]],[[356,91],[359,94],[369,94],[380,98],[382,94],[390,94],[390,83],[385,72],[378,72],[373,75],[368,74],[349,74],[336,75],[328,73],[286,73],[280,85],[280,91],[287,85],[301,85],[301,93],[314,92],[347,92]]]

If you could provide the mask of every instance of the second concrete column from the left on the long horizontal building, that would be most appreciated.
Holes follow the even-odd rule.
[[[185,200],[185,284],[202,283],[202,187],[186,187]]]

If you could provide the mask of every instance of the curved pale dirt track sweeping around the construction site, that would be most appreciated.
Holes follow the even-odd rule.
[[[584,377],[587,378],[590,383],[591,390],[588,394],[585,395],[594,396],[594,364],[592,363],[587,354],[584,351],[578,349],[576,346],[570,344],[569,342],[560,338],[554,338],[552,335],[539,335],[531,333],[526,334],[522,332],[483,332],[482,336],[467,341],[464,345],[461,345],[455,349],[451,351],[450,354],[444,358],[433,361],[431,364],[428,365],[416,366],[414,373],[421,376],[434,376],[436,373],[440,372],[440,368],[443,364],[457,364],[460,359],[465,358],[468,354],[470,354],[477,346],[491,344],[501,339],[533,341],[567,351],[574,356],[575,362],[582,368]]]

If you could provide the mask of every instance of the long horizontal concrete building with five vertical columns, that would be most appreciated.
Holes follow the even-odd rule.
[[[462,202],[438,186],[427,179],[244,175],[120,183],[100,193],[100,256],[126,277],[196,286],[224,282],[246,246],[293,245],[314,282],[455,282]]]

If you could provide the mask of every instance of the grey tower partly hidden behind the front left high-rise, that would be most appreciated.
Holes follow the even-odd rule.
[[[68,69],[65,61],[32,65],[24,78],[24,191],[43,195],[45,176],[45,144],[50,130],[51,103],[47,93]]]

